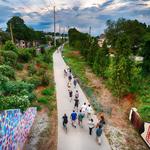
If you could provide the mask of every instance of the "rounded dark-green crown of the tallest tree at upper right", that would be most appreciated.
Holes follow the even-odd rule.
[[[120,33],[125,33],[131,42],[131,50],[136,54],[144,42],[144,35],[147,27],[145,24],[137,20],[126,20],[124,18],[118,19],[116,22],[108,20],[107,29],[105,30],[108,43],[115,47],[115,43],[119,38]],[[138,32],[137,32],[138,31]]]

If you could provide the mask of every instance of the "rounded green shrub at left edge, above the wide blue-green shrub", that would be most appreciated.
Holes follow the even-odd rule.
[[[0,65],[0,73],[10,79],[15,79],[15,70],[8,65]]]

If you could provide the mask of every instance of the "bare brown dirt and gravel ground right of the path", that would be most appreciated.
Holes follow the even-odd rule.
[[[148,147],[139,134],[133,129],[128,121],[129,110],[133,103],[133,97],[122,99],[118,104],[115,97],[105,87],[104,81],[96,77],[90,69],[86,70],[89,86],[95,89],[97,99],[103,107],[112,108],[111,116],[107,118],[106,135],[113,150],[148,150]]]

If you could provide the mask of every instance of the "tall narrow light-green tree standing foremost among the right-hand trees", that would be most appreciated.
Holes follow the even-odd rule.
[[[120,99],[128,92],[131,85],[132,61],[129,56],[131,53],[131,44],[128,36],[121,33],[115,45],[115,58],[112,73],[113,88]]]

